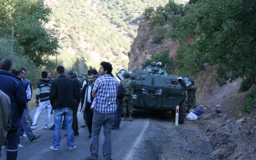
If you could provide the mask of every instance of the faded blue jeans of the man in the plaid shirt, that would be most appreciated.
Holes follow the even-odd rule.
[[[98,141],[103,125],[105,140],[102,146],[104,159],[110,159],[112,154],[111,127],[114,121],[114,113],[100,113],[94,111],[92,118],[92,137],[90,142],[90,153],[93,159],[98,159]]]

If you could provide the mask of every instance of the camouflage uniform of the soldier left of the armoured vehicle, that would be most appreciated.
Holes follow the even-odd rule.
[[[127,108],[129,109],[129,114],[133,114],[133,91],[136,88],[136,84],[129,78],[124,78],[121,84],[126,87],[126,95],[123,98],[123,114],[127,113]]]

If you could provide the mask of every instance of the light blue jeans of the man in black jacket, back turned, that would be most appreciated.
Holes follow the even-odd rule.
[[[72,130],[73,111],[71,107],[56,108],[54,110],[54,124],[55,130],[53,132],[53,146],[54,148],[60,147],[60,129],[62,123],[62,115],[66,124],[67,131],[67,147],[74,147],[74,132]]]

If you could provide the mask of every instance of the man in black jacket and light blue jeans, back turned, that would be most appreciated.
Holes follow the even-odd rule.
[[[72,108],[77,106],[77,88],[73,79],[65,76],[63,66],[56,68],[58,78],[51,82],[50,102],[54,109],[54,137],[51,150],[58,151],[60,147],[60,127],[62,116],[64,116],[67,131],[67,146],[69,150],[74,150],[74,132],[72,130],[73,111]]]

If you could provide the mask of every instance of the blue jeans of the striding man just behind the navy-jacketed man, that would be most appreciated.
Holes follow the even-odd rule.
[[[24,131],[25,131],[28,139],[31,140],[33,138],[34,134],[30,127],[30,122],[27,119],[27,109],[25,109],[22,116],[20,117],[19,136],[23,136]]]

